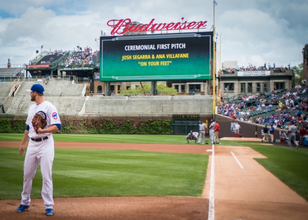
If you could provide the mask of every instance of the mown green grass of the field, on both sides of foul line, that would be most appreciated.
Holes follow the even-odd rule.
[[[21,141],[21,134],[0,134],[0,141]],[[55,141],[185,144],[185,136],[54,135]],[[308,149],[287,149],[261,142],[221,141],[249,146],[267,158],[258,161],[308,201]],[[249,143],[249,144],[247,144]],[[191,143],[191,146],[194,144]],[[0,199],[19,199],[23,161],[17,148],[0,148]],[[54,197],[82,196],[201,196],[208,155],[134,150],[55,149]],[[37,170],[32,198],[41,197]]]

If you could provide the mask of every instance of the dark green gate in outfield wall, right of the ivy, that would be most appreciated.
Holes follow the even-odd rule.
[[[172,117],[174,135],[187,135],[191,130],[199,132],[199,115],[174,115]]]

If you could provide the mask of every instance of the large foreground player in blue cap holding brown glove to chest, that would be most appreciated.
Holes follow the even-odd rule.
[[[24,186],[22,201],[17,212],[24,212],[30,206],[30,194],[32,179],[38,164],[41,166],[43,177],[42,197],[44,200],[46,215],[53,215],[52,177],[51,169],[54,157],[54,141],[52,133],[61,130],[61,121],[57,109],[44,99],[44,87],[40,84],[32,85],[30,91],[31,105],[28,111],[27,127],[20,146],[20,154],[25,154],[25,143],[30,138],[24,162]],[[44,126],[37,127],[38,122],[33,121],[41,117]],[[42,123],[43,124],[43,123]]]

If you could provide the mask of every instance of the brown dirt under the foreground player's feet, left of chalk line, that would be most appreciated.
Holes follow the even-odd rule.
[[[73,187],[73,186],[72,186]],[[45,219],[42,199],[32,199],[29,211],[16,212],[20,200],[0,201],[0,219]],[[207,219],[208,199],[190,197],[55,198],[52,219]]]

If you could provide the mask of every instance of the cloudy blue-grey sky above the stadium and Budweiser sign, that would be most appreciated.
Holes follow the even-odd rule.
[[[308,1],[217,0],[215,26],[221,61],[239,66],[264,62],[298,65],[308,43]],[[29,63],[35,50],[73,50],[89,46],[112,19],[149,23],[207,21],[213,25],[213,1],[196,0],[0,0],[0,64]],[[219,39],[221,36],[221,48]]]

